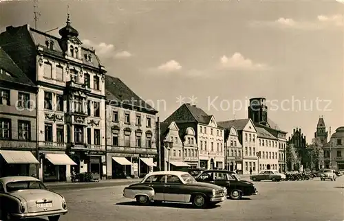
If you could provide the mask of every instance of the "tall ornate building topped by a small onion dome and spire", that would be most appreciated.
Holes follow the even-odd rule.
[[[83,47],[69,15],[59,34],[23,25],[7,27],[0,35],[1,45],[38,88],[39,178],[66,181],[72,167],[102,178],[106,71],[95,51]]]

